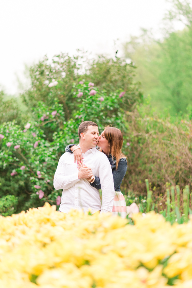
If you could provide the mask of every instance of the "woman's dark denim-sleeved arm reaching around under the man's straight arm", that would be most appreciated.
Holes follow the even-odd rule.
[[[119,162],[117,170],[115,169],[112,170],[115,190],[121,184],[125,176],[126,170],[127,170],[127,161],[125,160]],[[100,180],[97,176],[95,176],[95,181],[91,184],[91,186],[95,187],[98,190],[101,189]]]

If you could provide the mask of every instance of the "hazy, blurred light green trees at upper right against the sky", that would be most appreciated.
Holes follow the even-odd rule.
[[[192,66],[192,8],[188,1],[172,1],[166,17],[164,39],[156,41],[148,31],[141,37],[132,37],[124,45],[126,57],[138,66],[137,79],[144,93],[150,94],[152,104],[159,111],[171,107],[172,115],[186,112],[191,102]],[[183,31],[174,31],[175,20],[185,24]]]

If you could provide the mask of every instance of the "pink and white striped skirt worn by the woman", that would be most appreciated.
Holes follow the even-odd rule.
[[[115,198],[113,203],[112,215],[120,215],[122,218],[126,217],[126,202],[125,197],[120,191],[115,191]]]

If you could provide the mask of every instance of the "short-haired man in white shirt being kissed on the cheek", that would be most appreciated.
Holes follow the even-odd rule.
[[[70,209],[83,209],[91,213],[97,211],[112,212],[114,200],[114,183],[112,169],[107,156],[95,149],[99,140],[96,123],[82,122],[78,129],[79,145],[84,157],[85,167],[78,171],[72,153],[64,153],[59,159],[53,185],[56,190],[63,189],[59,210],[68,213]],[[87,180],[92,175],[100,178],[102,206],[99,191]]]

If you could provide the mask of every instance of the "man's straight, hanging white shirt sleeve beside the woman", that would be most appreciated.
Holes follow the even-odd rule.
[[[99,178],[102,190],[101,213],[112,212],[115,196],[113,174],[111,165],[106,155],[103,155],[99,163]]]

